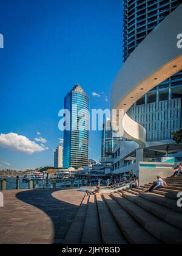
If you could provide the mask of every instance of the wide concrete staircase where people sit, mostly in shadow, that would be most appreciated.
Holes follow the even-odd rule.
[[[152,183],[84,197],[63,244],[182,244],[182,177],[144,193]]]

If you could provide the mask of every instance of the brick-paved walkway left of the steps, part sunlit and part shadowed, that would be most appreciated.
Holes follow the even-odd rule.
[[[83,197],[77,190],[4,191],[0,244],[61,244]]]

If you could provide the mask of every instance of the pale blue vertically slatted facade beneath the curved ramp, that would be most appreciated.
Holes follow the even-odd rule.
[[[147,141],[172,139],[181,127],[181,98],[133,106],[129,115],[147,130]]]

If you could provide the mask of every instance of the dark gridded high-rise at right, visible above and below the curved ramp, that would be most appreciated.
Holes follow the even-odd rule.
[[[182,0],[124,0],[124,62],[181,3]],[[146,128],[147,141],[170,140],[171,133],[181,127],[181,98],[182,71],[147,93],[128,114]]]

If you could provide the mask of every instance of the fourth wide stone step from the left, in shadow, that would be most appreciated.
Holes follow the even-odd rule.
[[[119,194],[118,194],[119,196]],[[143,227],[133,219],[123,207],[117,204],[109,194],[103,194],[107,206],[112,212],[115,221],[121,229],[126,240],[131,244],[158,244],[160,243],[156,238],[150,235]]]

